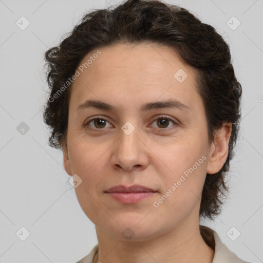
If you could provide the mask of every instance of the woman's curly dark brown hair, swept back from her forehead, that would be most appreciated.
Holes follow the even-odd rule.
[[[182,7],[157,0],[127,0],[116,7],[90,10],[58,46],[45,52],[50,92],[43,118],[51,128],[49,145],[62,149],[71,86],[65,88],[65,83],[83,57],[95,48],[143,42],[171,47],[185,63],[197,69],[196,82],[205,107],[210,143],[223,122],[232,123],[227,160],[218,173],[206,175],[202,190],[199,216],[214,219],[229,190],[225,176],[239,130],[242,90],[231,64],[229,45],[214,27],[201,23]]]

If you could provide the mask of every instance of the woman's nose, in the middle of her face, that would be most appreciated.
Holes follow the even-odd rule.
[[[138,128],[128,135],[120,130],[120,137],[112,146],[111,164],[115,169],[132,171],[143,170],[148,164],[149,148],[146,139]]]

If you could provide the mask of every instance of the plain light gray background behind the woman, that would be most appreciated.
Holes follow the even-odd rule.
[[[117,1],[0,0],[0,262],[76,262],[97,243],[94,224],[85,216],[74,189],[70,190],[62,153],[47,145],[42,121],[47,98],[44,52],[58,45],[64,33],[91,8]],[[263,260],[263,1],[166,1],[181,5],[223,34],[243,88],[242,123],[232,161],[229,199],[215,229],[230,250],[251,262]],[[16,21],[30,25],[21,30]],[[241,25],[232,30],[227,21]],[[236,22],[232,24],[235,26]],[[18,125],[25,122],[24,135]],[[18,128],[17,128],[18,126]],[[17,130],[18,129],[18,130]],[[16,232],[25,227],[22,241]],[[227,232],[241,235],[232,241]],[[25,232],[24,232],[25,233]]]

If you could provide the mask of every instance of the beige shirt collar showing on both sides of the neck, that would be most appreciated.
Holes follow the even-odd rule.
[[[249,263],[243,261],[235,253],[230,251],[226,245],[223,244],[218,234],[209,228],[212,231],[215,239],[215,254],[212,263]],[[98,261],[98,244],[90,251],[90,253],[79,260],[77,263],[93,263]]]

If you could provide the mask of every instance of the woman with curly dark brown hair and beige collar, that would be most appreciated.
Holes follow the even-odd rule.
[[[49,144],[98,245],[79,263],[245,262],[220,213],[240,121],[229,46],[184,8],[128,0],[46,51]]]

